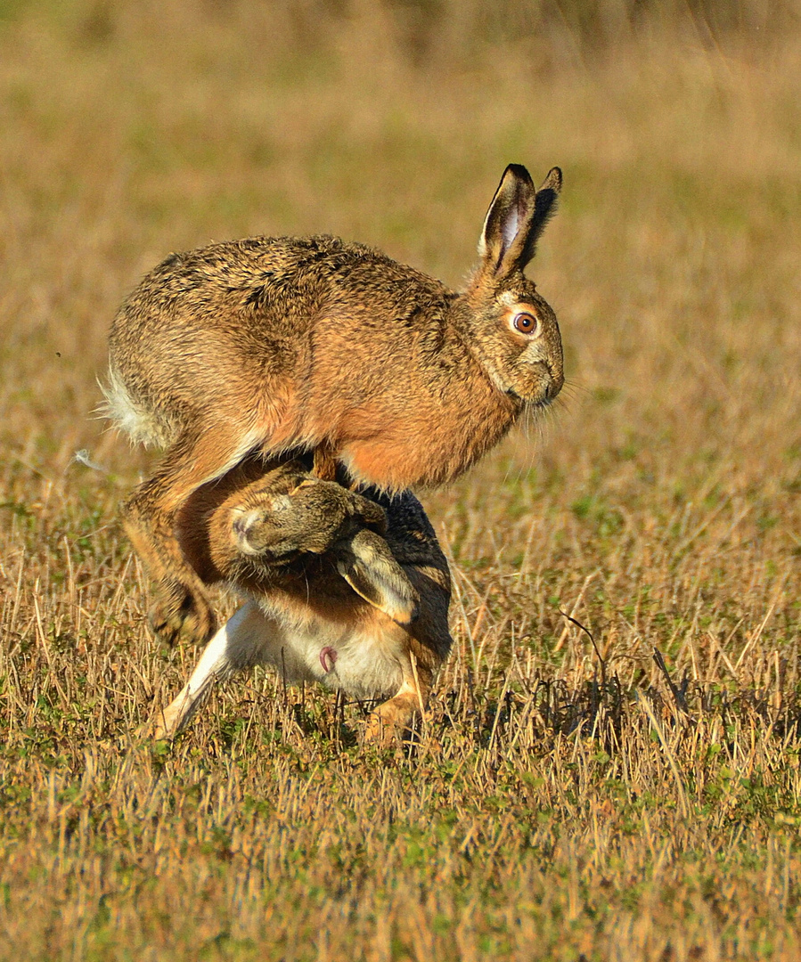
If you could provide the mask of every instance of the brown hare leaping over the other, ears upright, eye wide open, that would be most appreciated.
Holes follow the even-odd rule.
[[[360,244],[252,238],[173,254],[120,308],[106,413],[167,454],[125,506],[157,634],[214,617],[176,536],[193,493],[253,452],[317,453],[382,491],[446,482],[562,387],[554,312],[524,268],[561,188],[509,165],[464,291]]]

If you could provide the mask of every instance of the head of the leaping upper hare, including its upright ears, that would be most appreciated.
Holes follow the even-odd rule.
[[[506,167],[478,241],[478,270],[461,299],[478,361],[521,406],[550,403],[564,382],[556,316],[523,273],[561,184],[558,167],[539,190],[525,167]]]

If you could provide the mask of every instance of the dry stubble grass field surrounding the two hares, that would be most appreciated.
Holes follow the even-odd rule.
[[[801,32],[718,8],[0,4],[0,957],[801,957]],[[458,284],[509,161],[564,170],[569,385],[424,495],[418,743],[265,672],[142,744],[196,651],[119,525],[153,457],[91,418],[116,305],[258,233]]]

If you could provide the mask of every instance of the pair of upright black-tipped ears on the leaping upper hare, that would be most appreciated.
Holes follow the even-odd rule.
[[[554,167],[539,190],[526,167],[510,164],[484,219],[478,241],[483,270],[501,278],[523,270],[534,256],[536,243],[556,208],[562,174]]]

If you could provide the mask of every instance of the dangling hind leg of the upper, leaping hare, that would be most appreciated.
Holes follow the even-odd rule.
[[[178,512],[197,488],[237,465],[255,443],[249,435],[232,441],[230,426],[187,434],[125,504],[125,530],[156,582],[158,600],[150,609],[150,627],[169,644],[182,630],[205,642],[217,626],[203,582],[178,542]]]

